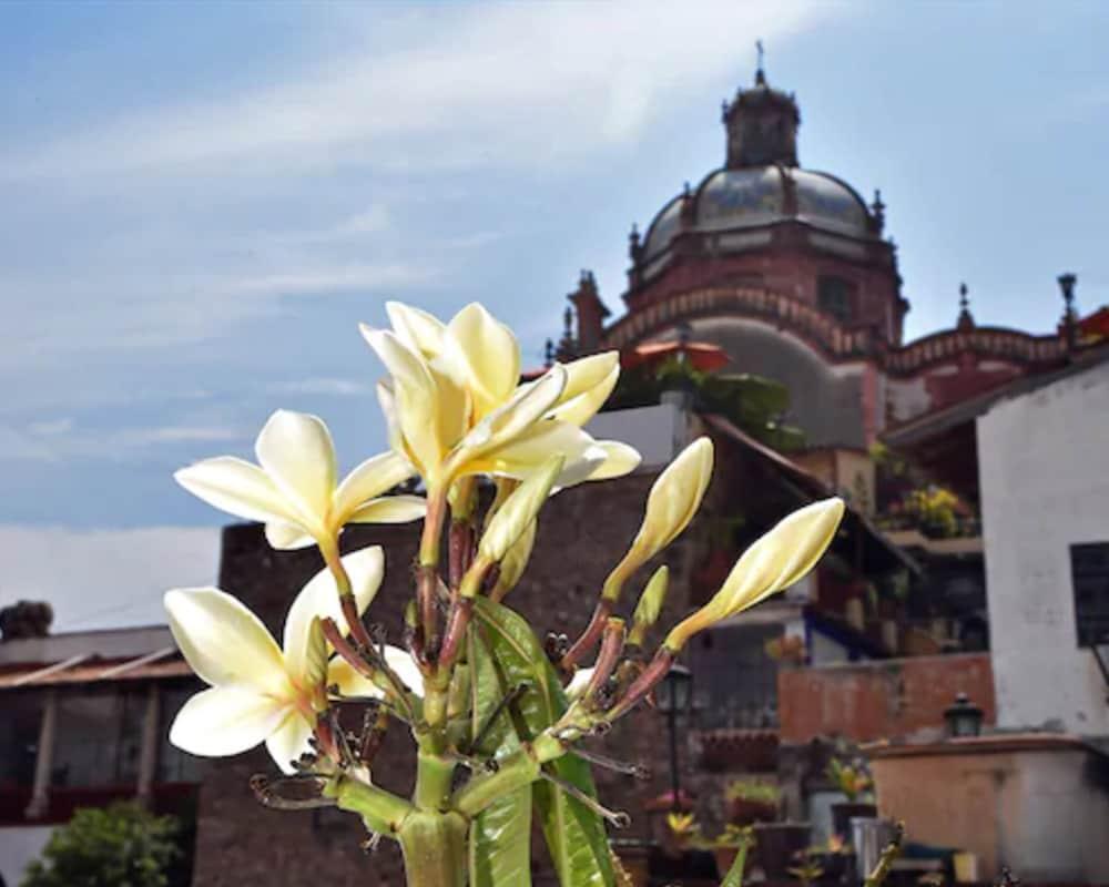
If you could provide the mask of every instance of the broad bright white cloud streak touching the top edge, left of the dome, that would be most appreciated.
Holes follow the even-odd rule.
[[[637,137],[669,101],[731,71],[755,38],[783,39],[832,11],[724,0],[437,12],[418,43],[353,47],[284,83],[69,133],[9,153],[0,176],[550,162]]]

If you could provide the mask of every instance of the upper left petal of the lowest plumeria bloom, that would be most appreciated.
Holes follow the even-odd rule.
[[[201,588],[167,591],[164,601],[173,639],[201,680],[288,695],[281,650],[262,620],[236,599]]]

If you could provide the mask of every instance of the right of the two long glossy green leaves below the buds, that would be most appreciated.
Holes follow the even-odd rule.
[[[528,685],[516,706],[517,730],[522,737],[532,740],[567,710],[558,675],[526,620],[485,598],[477,599],[476,604],[477,624],[488,639],[505,683]],[[581,758],[567,754],[547,766],[558,778],[597,797],[589,764]],[[614,875],[603,819],[546,781],[533,783],[531,792],[562,887],[612,887]]]

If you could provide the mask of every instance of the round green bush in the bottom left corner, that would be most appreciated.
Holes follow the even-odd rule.
[[[134,803],[79,809],[28,867],[21,887],[167,887],[177,820]]]

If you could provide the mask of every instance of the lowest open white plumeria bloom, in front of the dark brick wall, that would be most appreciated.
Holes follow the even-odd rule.
[[[381,549],[362,549],[343,564],[360,614],[381,583]],[[321,620],[343,622],[335,580],[326,570],[294,601],[281,646],[254,613],[216,588],[169,591],[165,609],[182,655],[210,685],[185,703],[170,730],[170,741],[191,754],[235,755],[264,742],[277,765],[292,773],[292,762],[308,751],[316,718],[327,707],[328,686],[381,695],[370,682],[355,679],[346,663],[329,660]],[[409,687],[423,692],[407,653],[391,649],[387,661]]]

